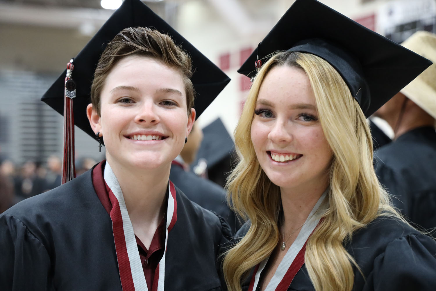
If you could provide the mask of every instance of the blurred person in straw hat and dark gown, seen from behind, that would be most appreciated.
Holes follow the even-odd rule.
[[[391,144],[375,152],[375,169],[394,206],[418,229],[435,236],[436,34],[417,31],[402,45],[433,65],[375,113],[395,135]]]

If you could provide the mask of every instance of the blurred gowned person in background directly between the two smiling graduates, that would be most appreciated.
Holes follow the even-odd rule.
[[[187,142],[181,153],[171,164],[170,180],[191,201],[224,217],[232,229],[232,233],[235,233],[239,229],[239,223],[235,213],[230,210],[227,204],[224,188],[207,178],[198,177],[189,171],[189,166],[195,160],[202,140],[203,131],[198,122],[196,122],[187,137]]]

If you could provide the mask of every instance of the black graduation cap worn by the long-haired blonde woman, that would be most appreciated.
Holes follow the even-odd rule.
[[[238,72],[253,77],[258,59],[286,50],[329,62],[367,117],[431,65],[316,0],[296,0]]]

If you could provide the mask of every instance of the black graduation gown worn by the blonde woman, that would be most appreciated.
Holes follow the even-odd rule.
[[[244,236],[246,223],[237,233]],[[354,233],[345,245],[364,274],[354,269],[353,291],[436,290],[436,242],[398,219],[381,216]],[[251,275],[242,285],[248,290]],[[303,265],[288,291],[313,291]]]

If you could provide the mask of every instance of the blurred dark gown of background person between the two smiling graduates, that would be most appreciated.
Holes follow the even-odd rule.
[[[175,164],[171,165],[170,180],[191,201],[224,217],[233,234],[239,229],[235,212],[228,207],[224,188]]]

